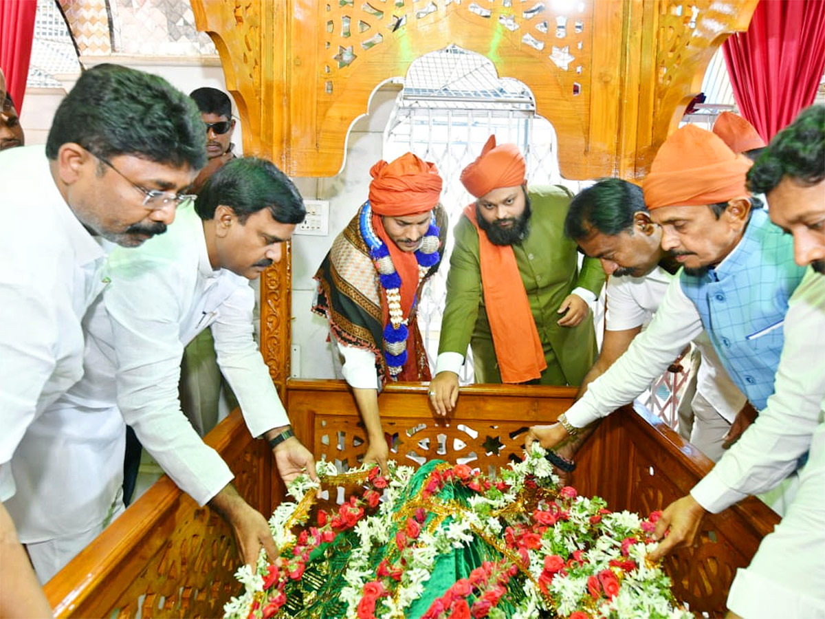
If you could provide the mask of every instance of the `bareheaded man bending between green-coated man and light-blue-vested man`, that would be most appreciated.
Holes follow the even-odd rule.
[[[601,352],[584,377],[578,398],[641,333],[643,324],[650,321],[661,304],[678,265],[662,249],[662,229],[650,220],[642,188],[619,178],[596,182],[575,196],[564,232],[585,255],[598,258],[610,276]],[[742,413],[744,417],[755,417],[756,412],[728,378],[704,331],[693,343],[701,360],[695,376],[695,395],[686,403],[694,423],[683,436],[705,456],[718,461],[724,447],[741,433],[731,432],[737,413],[744,406],[749,409],[749,414]],[[589,434],[582,432],[577,444]]]

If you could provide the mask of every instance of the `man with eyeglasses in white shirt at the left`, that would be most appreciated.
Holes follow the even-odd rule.
[[[138,120],[136,120],[138,119]],[[108,283],[110,242],[165,231],[205,163],[196,106],[115,65],[82,73],[45,146],[0,152],[0,499],[31,423],[82,376],[86,309]],[[105,240],[104,240],[105,239]],[[0,616],[51,617],[0,505]]]

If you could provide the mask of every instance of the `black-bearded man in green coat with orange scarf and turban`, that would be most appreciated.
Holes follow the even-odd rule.
[[[526,187],[515,144],[491,135],[461,172],[476,201],[455,226],[436,377],[436,412],[453,409],[468,345],[477,383],[578,385],[596,357],[588,306],[605,281],[599,262],[577,267],[563,235],[570,192]],[[559,315],[562,314],[562,315]]]

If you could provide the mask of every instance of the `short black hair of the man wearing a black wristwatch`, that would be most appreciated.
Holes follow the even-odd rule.
[[[281,224],[300,224],[306,210],[298,187],[266,159],[243,157],[221,166],[200,190],[195,210],[202,220],[214,218],[219,205],[229,206],[243,224],[268,208]]]

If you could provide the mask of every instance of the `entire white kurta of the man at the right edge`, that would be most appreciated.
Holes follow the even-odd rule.
[[[808,269],[790,298],[774,395],[691,495],[719,513],[774,488],[796,469],[799,486],[751,565],[739,569],[728,608],[744,619],[825,617],[825,276]]]

